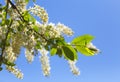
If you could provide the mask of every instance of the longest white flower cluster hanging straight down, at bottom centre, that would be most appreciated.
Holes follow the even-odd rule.
[[[47,56],[48,51],[44,48],[40,49],[39,51],[41,53],[40,61],[42,65],[43,74],[45,76],[49,76],[51,68],[50,68],[50,63],[49,63],[49,57]]]

